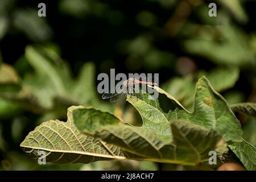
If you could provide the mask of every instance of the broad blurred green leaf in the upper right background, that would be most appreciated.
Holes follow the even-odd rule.
[[[215,31],[218,36],[221,36],[220,39],[216,39],[212,31],[203,29],[199,32],[201,35],[184,42],[185,49],[189,53],[206,57],[219,65],[255,67],[254,52],[244,41],[246,39],[244,32],[229,24],[220,26]]]

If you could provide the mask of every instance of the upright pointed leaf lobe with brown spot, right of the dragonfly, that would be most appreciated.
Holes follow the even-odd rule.
[[[206,77],[201,77],[197,82],[193,111],[186,110],[164,90],[156,86],[155,89],[162,93],[159,96],[159,104],[166,113],[168,121],[172,121],[172,119],[190,121],[218,131],[226,142],[229,140],[241,142],[243,133],[240,122],[226,100],[212,88]],[[162,98],[163,94],[166,97]],[[167,98],[169,99],[167,100]],[[137,105],[137,102],[134,100],[133,104]],[[140,112],[140,110],[138,111]]]

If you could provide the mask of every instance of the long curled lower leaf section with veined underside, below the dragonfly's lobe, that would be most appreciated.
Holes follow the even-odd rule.
[[[88,122],[84,125],[75,119],[90,135],[100,124],[105,127],[97,132],[96,137],[82,134],[73,123],[73,115]],[[213,130],[187,122],[172,122],[171,128],[174,142],[165,144],[154,132],[122,123],[110,113],[72,106],[68,109],[67,122],[51,120],[42,123],[28,134],[20,147],[33,158],[39,158],[38,152],[45,151],[46,161],[51,163],[127,158],[195,165],[208,160],[208,152],[216,148],[220,139]]]

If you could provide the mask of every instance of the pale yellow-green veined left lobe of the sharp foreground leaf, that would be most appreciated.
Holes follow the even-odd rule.
[[[113,144],[80,133],[73,123],[72,111],[81,107],[69,107],[68,121],[50,120],[31,131],[20,147],[33,158],[39,151],[46,152],[46,162],[90,163],[97,160],[140,159]]]

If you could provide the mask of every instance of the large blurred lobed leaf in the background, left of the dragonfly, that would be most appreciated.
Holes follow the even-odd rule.
[[[0,96],[5,100],[18,102],[35,113],[51,113],[54,118],[65,117],[65,110],[72,105],[113,110],[113,106],[98,99],[94,90],[94,64],[85,63],[75,80],[67,64],[52,49],[27,46],[25,57],[34,72],[26,73],[19,82],[12,67],[4,64],[0,70]]]

